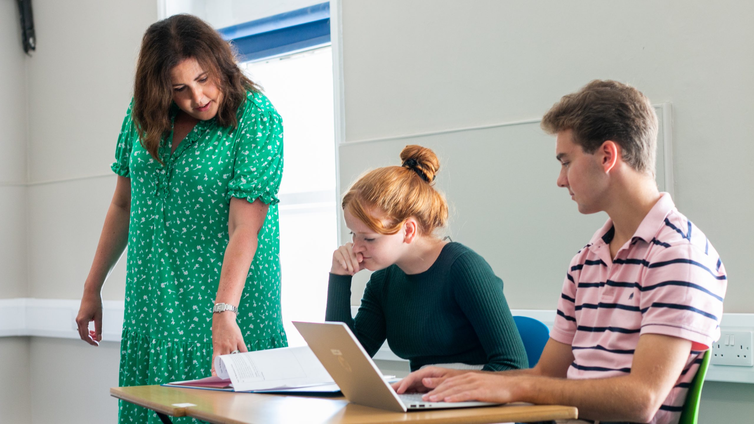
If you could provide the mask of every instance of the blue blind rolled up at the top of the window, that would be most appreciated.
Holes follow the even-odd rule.
[[[236,45],[244,60],[306,50],[330,41],[329,2],[227,26],[217,31],[222,38]]]

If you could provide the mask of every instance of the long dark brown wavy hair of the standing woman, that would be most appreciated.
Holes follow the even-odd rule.
[[[131,117],[139,132],[139,142],[159,163],[162,163],[158,153],[160,141],[171,130],[170,70],[189,58],[196,59],[209,72],[222,93],[216,115],[222,127],[237,127],[236,112],[246,100],[247,90],[261,90],[238,68],[228,41],[203,20],[177,14],[153,23],[144,33],[139,50]]]

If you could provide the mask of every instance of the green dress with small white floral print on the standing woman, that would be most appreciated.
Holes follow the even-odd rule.
[[[280,115],[264,95],[248,93],[237,128],[200,121],[173,154],[172,142],[172,133],[161,142],[162,166],[139,143],[128,108],[112,164],[131,182],[120,386],[210,375],[211,310],[231,197],[270,205],[238,306],[241,334],[250,350],[287,346],[275,197],[283,172]],[[160,422],[125,401],[118,415],[121,423]]]

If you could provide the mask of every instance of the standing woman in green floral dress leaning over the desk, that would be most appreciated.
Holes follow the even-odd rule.
[[[198,18],[147,29],[112,170],[118,183],[76,321],[97,345],[100,291],[127,246],[119,385],[207,377],[216,355],[287,346],[275,197],[283,123]],[[159,422],[124,401],[119,419]]]

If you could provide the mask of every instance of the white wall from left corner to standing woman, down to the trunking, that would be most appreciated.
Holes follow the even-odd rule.
[[[81,297],[115,189],[115,143],[154,0],[36,0],[29,78],[29,296]],[[125,273],[106,299],[122,299]]]

